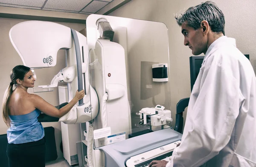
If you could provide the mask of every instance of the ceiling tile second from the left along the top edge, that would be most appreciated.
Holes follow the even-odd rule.
[[[80,11],[92,0],[48,0],[45,8]]]

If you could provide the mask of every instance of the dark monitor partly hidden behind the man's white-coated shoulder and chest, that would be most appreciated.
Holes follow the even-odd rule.
[[[249,55],[244,55],[244,56],[249,59]],[[198,73],[200,71],[203,60],[204,60],[204,56],[191,56],[191,57],[189,57],[191,92],[192,92],[193,86],[195,84],[195,80],[196,80],[196,78],[198,76]]]

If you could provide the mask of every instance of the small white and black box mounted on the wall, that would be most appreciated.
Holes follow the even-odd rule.
[[[154,82],[168,82],[167,66],[167,63],[152,65],[152,75]]]

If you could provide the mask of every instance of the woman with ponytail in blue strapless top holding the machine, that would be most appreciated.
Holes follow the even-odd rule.
[[[57,109],[40,96],[27,92],[35,83],[29,67],[15,66],[10,77],[3,98],[3,120],[10,127],[7,130],[9,167],[45,167],[44,128],[38,122],[38,115],[44,112],[60,118],[84,97],[84,90],[77,91],[70,103]]]

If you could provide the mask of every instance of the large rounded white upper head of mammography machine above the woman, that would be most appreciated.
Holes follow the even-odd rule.
[[[52,22],[18,23],[10,30],[9,37],[23,64],[30,68],[55,66],[58,50],[72,47],[70,28]]]

